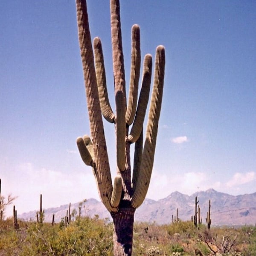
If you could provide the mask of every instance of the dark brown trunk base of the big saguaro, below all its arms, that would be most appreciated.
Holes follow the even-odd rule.
[[[134,212],[133,207],[125,207],[111,213],[114,224],[114,256],[131,256]]]

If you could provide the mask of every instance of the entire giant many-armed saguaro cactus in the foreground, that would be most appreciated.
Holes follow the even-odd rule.
[[[86,1],[76,0],[79,44],[90,121],[90,136],[79,137],[77,146],[84,163],[92,167],[99,196],[113,218],[114,255],[123,256],[132,253],[134,212],[143,203],[150,183],[163,96],[165,49],[163,46],[156,49],[153,89],[143,138],[152,56],[145,55],[142,85],[138,93],[141,64],[140,27],[134,25],[131,29],[131,72],[127,101],[119,0],[111,0],[110,6],[116,113],[113,112],[108,99],[102,43],[99,38],[94,38],[92,43]],[[117,174],[113,183],[102,116],[113,123],[116,134]],[[135,143],[133,170],[130,158],[132,143]]]

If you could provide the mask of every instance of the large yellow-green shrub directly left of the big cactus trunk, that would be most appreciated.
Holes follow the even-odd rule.
[[[81,218],[70,225],[30,224],[20,256],[110,256],[112,225]]]

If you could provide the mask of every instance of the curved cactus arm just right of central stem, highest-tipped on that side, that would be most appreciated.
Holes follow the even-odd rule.
[[[125,115],[125,120],[128,125],[132,124],[136,113],[138,87],[140,79],[140,27],[137,24],[134,24],[132,26],[131,38],[131,75],[128,106]]]

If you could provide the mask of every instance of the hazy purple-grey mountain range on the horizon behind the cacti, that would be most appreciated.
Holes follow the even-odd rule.
[[[244,225],[256,224],[256,193],[245,195],[228,195],[217,192],[214,189],[197,192],[193,195],[183,195],[173,192],[168,197],[158,201],[145,199],[144,203],[135,212],[135,221],[156,222],[157,224],[168,224],[172,222],[172,215],[176,215],[178,208],[179,218],[183,221],[191,220],[195,212],[195,197],[199,200],[202,221],[205,223],[211,200],[212,225]],[[69,205],[45,209],[45,221],[52,221],[55,214],[55,222],[61,221],[67,214]],[[71,212],[79,211],[79,203],[71,204]],[[110,218],[109,212],[104,205],[96,199],[90,198],[82,205],[82,215],[100,218]],[[35,220],[36,211],[23,213],[18,218]]]

